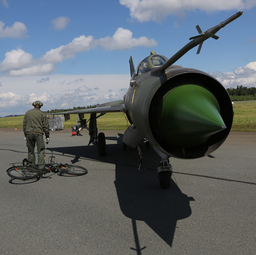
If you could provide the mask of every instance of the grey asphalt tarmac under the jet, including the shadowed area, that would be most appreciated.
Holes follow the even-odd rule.
[[[105,131],[99,157],[87,131],[51,131],[56,161],[88,174],[20,181],[6,169],[27,157],[22,129],[0,129],[0,254],[256,254],[255,132],[231,132],[207,157],[171,158],[168,190],[154,150],[142,147],[138,173],[138,152],[123,151],[122,133]]]

